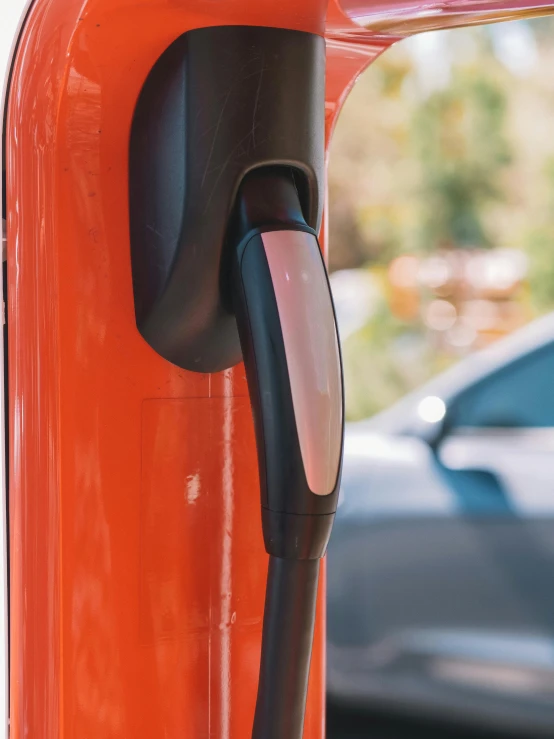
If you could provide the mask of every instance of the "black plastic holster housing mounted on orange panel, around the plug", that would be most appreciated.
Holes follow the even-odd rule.
[[[324,82],[321,37],[250,26],[189,31],[149,74],[130,139],[131,260],[139,331],[170,362],[215,372],[241,359],[223,255],[248,172],[289,167],[319,228]]]

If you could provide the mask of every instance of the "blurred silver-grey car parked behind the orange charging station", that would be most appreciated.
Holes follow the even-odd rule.
[[[554,736],[554,315],[347,425],[328,695]]]

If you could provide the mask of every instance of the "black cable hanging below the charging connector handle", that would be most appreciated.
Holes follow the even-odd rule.
[[[302,739],[319,563],[269,558],[252,739]]]

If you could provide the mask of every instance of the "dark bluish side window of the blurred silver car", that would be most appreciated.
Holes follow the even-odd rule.
[[[450,428],[554,427],[554,346],[518,359],[460,394]]]

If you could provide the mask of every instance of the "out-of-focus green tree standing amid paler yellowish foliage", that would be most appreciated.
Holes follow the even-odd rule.
[[[455,69],[448,88],[416,110],[412,147],[420,164],[416,197],[423,250],[493,244],[485,214],[505,198],[502,174],[511,161],[505,119],[501,84],[475,67]]]

